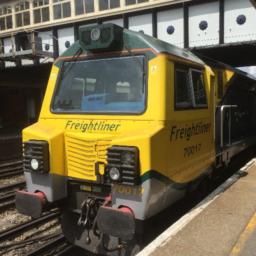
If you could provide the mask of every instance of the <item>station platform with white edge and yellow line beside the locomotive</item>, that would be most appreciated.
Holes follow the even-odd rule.
[[[255,256],[256,158],[137,256]]]

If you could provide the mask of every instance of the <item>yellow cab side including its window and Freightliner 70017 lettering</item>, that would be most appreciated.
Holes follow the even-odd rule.
[[[210,75],[203,65],[169,61],[168,87],[168,177],[184,190],[212,169]]]

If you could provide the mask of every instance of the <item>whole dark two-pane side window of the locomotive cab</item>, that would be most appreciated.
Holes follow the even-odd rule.
[[[175,66],[175,109],[207,108],[203,72],[187,66]]]

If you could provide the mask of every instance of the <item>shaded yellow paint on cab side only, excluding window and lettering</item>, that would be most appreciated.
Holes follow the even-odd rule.
[[[171,74],[169,84],[174,84],[174,63],[168,61],[168,73]],[[168,139],[168,176],[179,183],[190,181],[199,176],[203,171],[209,167],[213,161],[215,143],[213,140],[213,123],[212,114],[214,109],[210,106],[213,104],[213,99],[210,98],[210,79],[212,72],[204,70],[204,82],[207,95],[208,108],[206,109],[190,109],[174,111],[174,93],[173,86],[169,87],[167,94],[169,95],[169,101],[172,102],[167,115],[167,136]],[[185,129],[192,127],[196,124],[208,124],[208,132],[204,132],[198,135],[190,136],[187,138],[180,138],[180,133],[172,134],[171,130],[173,126],[175,129]],[[210,125],[209,125],[210,124]],[[197,127],[198,129],[198,127]],[[177,134],[177,136],[176,136]],[[199,145],[200,144],[200,145]],[[197,147],[197,152],[187,155],[185,149],[188,147]],[[199,149],[200,147],[200,149]],[[185,156],[184,156],[185,155]]]

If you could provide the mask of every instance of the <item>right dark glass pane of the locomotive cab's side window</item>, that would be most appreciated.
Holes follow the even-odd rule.
[[[195,104],[206,104],[205,89],[201,72],[191,70]]]

